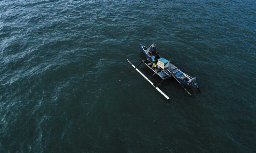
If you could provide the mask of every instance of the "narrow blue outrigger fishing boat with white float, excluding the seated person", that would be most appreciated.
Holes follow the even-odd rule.
[[[193,89],[197,90],[200,92],[200,89],[198,88],[198,85],[196,83],[196,78],[192,78],[189,75],[183,73],[179,68],[174,66],[173,64],[170,63],[170,61],[166,60],[165,58],[159,56],[158,54],[156,55],[150,55],[148,52],[148,48],[144,46],[143,44],[140,44],[142,48],[142,52],[145,54],[146,58],[144,61],[141,61],[141,63],[144,63],[148,68],[150,68],[154,74],[157,74],[162,80],[166,80],[168,78],[175,78],[177,82],[180,83],[180,85],[187,91],[187,89],[183,86],[189,86],[192,87]],[[157,91],[159,91],[167,100],[170,98],[162,91],[160,90],[157,86],[155,85],[152,81],[150,81],[151,77],[147,78],[137,67],[141,64],[138,64],[137,66],[134,66],[128,59],[127,61],[131,64],[131,66],[136,69],[152,86],[156,88]],[[183,84],[183,85],[182,85]],[[187,93],[191,96],[191,94],[187,91]]]

